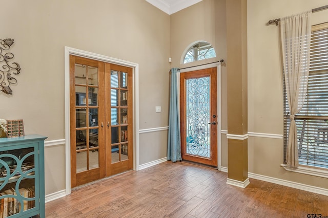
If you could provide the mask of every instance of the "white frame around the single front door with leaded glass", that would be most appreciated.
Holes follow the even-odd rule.
[[[217,169],[221,171],[221,62],[214,62],[209,64],[203,64],[201,66],[189,67],[186,69],[181,69],[180,73],[186,73],[190,71],[198,71],[208,68],[217,69]],[[180,76],[178,78],[178,89],[180,93]],[[179,101],[180,103],[180,101]],[[180,107],[180,106],[179,106]],[[180,118],[181,119],[181,118]]]

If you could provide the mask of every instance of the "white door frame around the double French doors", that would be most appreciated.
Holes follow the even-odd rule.
[[[71,193],[70,55],[113,63],[133,69],[133,170],[139,170],[139,64],[65,46],[65,192]]]

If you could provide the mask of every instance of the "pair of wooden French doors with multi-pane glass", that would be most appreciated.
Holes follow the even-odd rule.
[[[132,68],[70,56],[71,187],[133,168]]]

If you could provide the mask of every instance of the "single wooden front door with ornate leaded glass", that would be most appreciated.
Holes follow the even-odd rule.
[[[217,167],[217,68],[180,74],[182,160]]]

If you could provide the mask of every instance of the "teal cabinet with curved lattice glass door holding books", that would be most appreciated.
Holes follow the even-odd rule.
[[[45,217],[46,138],[0,138],[0,217]]]

